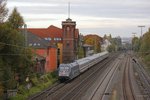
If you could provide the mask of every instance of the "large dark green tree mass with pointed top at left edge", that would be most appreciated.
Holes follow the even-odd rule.
[[[0,84],[4,90],[16,88],[16,74],[22,82],[30,74],[32,53],[24,46],[25,39],[19,31],[22,23],[23,18],[14,9],[9,19],[0,25]]]

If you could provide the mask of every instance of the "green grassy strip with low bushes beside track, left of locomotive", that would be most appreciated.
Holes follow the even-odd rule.
[[[18,94],[14,97],[11,97],[10,100],[26,100],[29,96],[48,88],[50,85],[55,83],[57,79],[58,78],[56,72],[48,73],[39,78],[36,75],[34,75],[31,77],[31,81],[33,84],[32,88],[28,90],[25,87],[25,84],[19,86]]]

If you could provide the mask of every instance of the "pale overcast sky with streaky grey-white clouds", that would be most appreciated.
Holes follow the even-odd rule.
[[[113,37],[132,37],[141,33],[138,25],[150,27],[149,0],[7,0],[11,13],[14,7],[24,17],[28,27],[47,28],[68,18],[68,2],[71,2],[72,20],[82,34],[112,34]]]

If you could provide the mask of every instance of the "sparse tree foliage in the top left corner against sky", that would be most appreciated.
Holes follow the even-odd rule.
[[[3,23],[7,16],[8,9],[6,9],[6,0],[0,0],[0,23]]]

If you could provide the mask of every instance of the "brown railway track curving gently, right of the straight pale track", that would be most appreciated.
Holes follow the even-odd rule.
[[[122,80],[122,89],[123,89],[123,97],[124,100],[136,100],[134,91],[133,91],[133,86],[131,83],[131,72],[130,68],[131,66],[131,58],[127,57],[125,59],[125,66],[124,66],[124,75],[123,75],[123,80]]]

